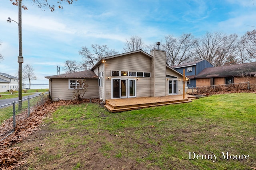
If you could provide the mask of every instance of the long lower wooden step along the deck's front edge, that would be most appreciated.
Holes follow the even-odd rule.
[[[104,105],[106,107],[106,109],[108,109],[111,112],[120,112],[120,111],[128,111],[128,110],[135,110],[135,109],[144,109],[144,108],[148,108],[148,107],[153,107],[153,106],[164,106],[164,105],[169,105],[169,104],[179,104],[179,103],[187,103],[187,102],[192,102],[191,99],[185,99],[185,100],[176,100],[176,101],[169,101],[169,102],[158,102],[158,103],[149,103],[149,104],[142,104],[142,106],[138,106],[138,105],[133,105],[133,106],[121,106],[121,107],[112,107],[110,105],[111,102],[106,102],[107,104]]]

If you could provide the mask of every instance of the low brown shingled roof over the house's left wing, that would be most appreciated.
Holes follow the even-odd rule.
[[[98,78],[98,76],[92,70],[85,70],[54,76],[45,76],[44,78]]]

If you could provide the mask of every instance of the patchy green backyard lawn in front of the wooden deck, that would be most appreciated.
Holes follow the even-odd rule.
[[[255,99],[250,93],[222,94],[122,113],[98,104],[62,106],[40,135],[20,144],[30,152],[24,167],[250,170],[256,167]],[[189,153],[217,158],[190,159]]]

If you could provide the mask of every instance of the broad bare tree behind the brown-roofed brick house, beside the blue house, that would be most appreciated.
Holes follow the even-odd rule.
[[[213,66],[222,66],[226,57],[236,49],[238,35],[229,36],[220,32],[206,33],[202,39],[195,41],[192,51],[196,60],[207,60]]]

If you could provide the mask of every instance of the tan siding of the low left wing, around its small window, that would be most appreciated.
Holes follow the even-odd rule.
[[[52,78],[51,81],[51,97],[53,101],[56,100],[73,100],[74,90],[68,89],[68,79]],[[87,92],[84,98],[98,98],[98,79],[86,79],[88,84]]]

